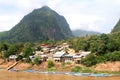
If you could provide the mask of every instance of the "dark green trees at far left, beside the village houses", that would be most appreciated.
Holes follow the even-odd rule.
[[[0,42],[0,57],[6,60],[9,58],[10,55],[17,55],[17,60],[21,60],[23,58],[29,59],[29,56],[33,54],[34,53],[31,43],[7,44],[4,42]]]

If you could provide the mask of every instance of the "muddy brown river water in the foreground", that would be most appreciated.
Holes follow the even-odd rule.
[[[0,70],[0,80],[120,80],[120,76],[78,77],[62,74],[38,74],[28,72],[9,72],[5,70]]]

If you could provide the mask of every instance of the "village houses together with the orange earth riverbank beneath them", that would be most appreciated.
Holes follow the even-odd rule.
[[[32,69],[40,71],[60,72],[113,72],[120,70],[119,62],[108,62],[107,64],[101,63],[92,67],[87,67],[83,65],[83,60],[88,57],[87,55],[92,54],[91,51],[79,50],[78,52],[76,52],[68,43],[65,42],[52,46],[47,43],[42,43],[37,44],[31,48],[34,49],[33,54],[31,54],[28,50],[27,54],[25,54],[24,50],[22,50],[18,54],[9,55],[8,58],[0,58],[0,68],[5,70],[17,71]],[[113,64],[114,66],[111,66]]]

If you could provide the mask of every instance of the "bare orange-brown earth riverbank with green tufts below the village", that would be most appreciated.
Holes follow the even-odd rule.
[[[0,59],[0,68],[8,69],[11,65],[16,63],[16,61],[4,62],[3,59]],[[58,62],[54,63],[53,68],[48,68],[47,62],[44,62],[40,65],[32,65],[29,63],[18,62],[17,65],[12,67],[12,69],[17,70],[40,70],[40,71],[58,71],[58,72],[71,72],[73,69],[76,71],[76,66],[81,67],[79,72],[83,73],[117,73],[120,74],[120,62],[106,62],[100,63],[93,67],[85,67],[81,64],[61,64]],[[74,72],[74,71],[73,71]]]

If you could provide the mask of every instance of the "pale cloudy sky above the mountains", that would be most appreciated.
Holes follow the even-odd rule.
[[[71,30],[110,33],[120,19],[120,0],[0,0],[0,32],[45,5],[63,15]]]

